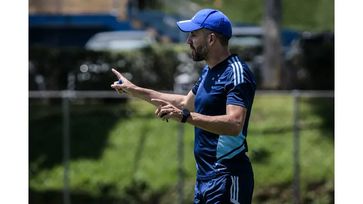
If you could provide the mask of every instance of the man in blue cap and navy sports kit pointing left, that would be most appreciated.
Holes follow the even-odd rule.
[[[196,204],[250,204],[254,175],[248,156],[247,128],[256,91],[248,66],[231,54],[232,26],[218,10],[204,9],[177,23],[190,32],[187,43],[194,61],[206,60],[202,75],[187,96],[159,93],[135,86],[116,70],[123,82],[111,85],[120,94],[156,106],[162,120],[195,126],[197,163]]]

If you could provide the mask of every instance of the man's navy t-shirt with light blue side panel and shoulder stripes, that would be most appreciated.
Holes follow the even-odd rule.
[[[237,54],[232,54],[212,69],[207,65],[192,88],[196,95],[195,112],[207,115],[226,115],[228,104],[247,108],[246,120],[237,137],[218,135],[195,127],[194,156],[197,178],[211,179],[223,175],[241,176],[251,171],[246,152],[247,128],[255,97],[256,79]]]

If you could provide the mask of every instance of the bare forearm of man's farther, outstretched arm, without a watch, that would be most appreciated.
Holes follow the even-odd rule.
[[[141,88],[138,87],[134,94],[135,97],[142,99],[146,102],[149,102],[155,106],[159,106],[160,104],[158,104],[157,102],[152,102],[151,99],[159,99],[159,100],[163,100],[165,102],[170,102],[171,104],[173,104],[174,106],[182,109],[184,108],[183,106],[183,100],[184,100],[184,96],[183,95],[176,95],[176,94],[165,94],[165,93],[160,93],[151,89],[145,89],[145,88]]]

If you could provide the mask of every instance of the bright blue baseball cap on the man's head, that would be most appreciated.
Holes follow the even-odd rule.
[[[207,28],[215,32],[232,37],[232,25],[230,20],[219,10],[203,9],[195,16],[186,21],[177,22],[178,27],[183,32],[190,32],[200,28]]]

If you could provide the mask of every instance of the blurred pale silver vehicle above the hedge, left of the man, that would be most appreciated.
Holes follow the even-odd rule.
[[[85,44],[86,50],[131,51],[151,46],[156,38],[148,31],[109,31],[92,36]]]

